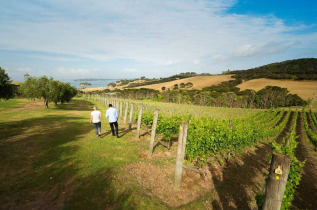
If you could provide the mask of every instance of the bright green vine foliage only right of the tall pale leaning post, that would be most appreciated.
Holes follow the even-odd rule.
[[[276,112],[273,112],[273,115]],[[205,162],[212,154],[239,153],[244,148],[255,145],[259,140],[279,133],[286,125],[290,112],[283,121],[275,126],[284,111],[271,119],[258,119],[256,116],[248,119],[229,120],[192,119],[188,129],[186,157],[190,161]],[[272,123],[273,121],[273,123]],[[275,127],[274,127],[275,126]]]

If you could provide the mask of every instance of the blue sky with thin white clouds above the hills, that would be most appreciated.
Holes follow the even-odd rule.
[[[218,74],[317,57],[315,0],[0,0],[0,66],[56,79]]]

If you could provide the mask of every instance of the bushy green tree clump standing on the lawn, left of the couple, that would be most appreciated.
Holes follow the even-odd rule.
[[[69,83],[49,79],[46,76],[36,78],[26,75],[26,80],[19,90],[24,97],[29,99],[43,99],[46,107],[49,102],[55,104],[69,102],[77,94],[76,88]]]

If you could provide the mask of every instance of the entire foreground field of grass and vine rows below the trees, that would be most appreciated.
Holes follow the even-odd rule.
[[[50,109],[38,106],[40,101],[24,99],[1,103],[1,208],[254,208],[255,195],[261,191],[268,171],[271,142],[282,143],[295,120],[295,112],[287,109],[260,111],[188,105],[174,105],[173,109],[165,103],[92,99],[77,98]],[[102,138],[95,137],[88,120],[91,107],[98,105],[104,113],[104,103],[110,101],[118,110],[120,102],[124,102],[122,110],[127,102],[129,109],[133,103],[133,121],[138,118],[139,104],[143,104],[140,139],[136,138],[136,125],[129,130],[124,123],[124,113],[119,120],[119,139],[109,135],[104,119]],[[157,138],[161,143],[155,141],[158,144],[152,158],[148,158],[150,136],[146,129],[150,129],[155,108],[160,109]],[[293,206],[311,209],[316,205],[313,192],[317,162],[315,146],[304,129],[304,113],[299,110],[296,119],[296,154],[300,161],[306,159],[309,164],[302,170]],[[185,162],[207,170],[209,175],[204,179],[185,170],[183,187],[175,191],[178,127],[189,115],[192,117]],[[310,112],[307,122],[316,133]],[[213,127],[217,129],[210,130]],[[198,147],[207,137],[222,140]],[[231,144],[225,143],[228,138]]]

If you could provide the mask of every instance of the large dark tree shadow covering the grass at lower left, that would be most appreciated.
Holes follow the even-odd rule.
[[[81,106],[74,103],[65,104],[65,110]],[[120,209],[126,205],[130,192],[117,192],[111,168],[92,172],[77,157],[83,135],[92,131],[84,120],[56,114],[0,123],[0,209]]]

